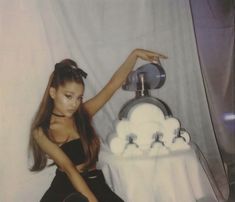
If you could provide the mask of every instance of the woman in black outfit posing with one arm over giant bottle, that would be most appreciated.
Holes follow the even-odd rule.
[[[95,167],[100,143],[91,118],[122,85],[138,58],[152,62],[166,56],[143,49],[132,51],[106,86],[84,103],[86,73],[70,59],[55,65],[31,126],[30,148],[34,156],[31,170],[44,169],[48,158],[58,167],[41,202],[123,201]]]

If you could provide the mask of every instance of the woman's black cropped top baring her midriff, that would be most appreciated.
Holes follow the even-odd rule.
[[[80,138],[66,142],[62,144],[60,148],[69,157],[74,165],[79,165],[85,162],[86,157]]]

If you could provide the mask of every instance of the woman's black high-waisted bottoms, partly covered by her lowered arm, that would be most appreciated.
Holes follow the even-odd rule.
[[[92,170],[81,175],[99,202],[124,202],[106,184],[101,170]],[[88,200],[74,189],[67,175],[57,169],[50,188],[40,202],[88,202]]]

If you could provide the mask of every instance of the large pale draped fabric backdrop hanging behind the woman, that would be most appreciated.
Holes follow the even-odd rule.
[[[165,101],[190,132],[227,197],[188,0],[0,0],[0,47],[0,201],[38,201],[53,177],[54,168],[38,174],[27,169],[30,121],[53,65],[75,59],[88,72],[87,99],[136,47],[169,56],[162,61],[166,83],[152,96]],[[133,96],[119,90],[96,115],[104,144]]]

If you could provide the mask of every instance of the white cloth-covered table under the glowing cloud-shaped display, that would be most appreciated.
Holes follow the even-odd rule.
[[[125,202],[218,201],[193,149],[130,158],[101,150],[99,166]]]

